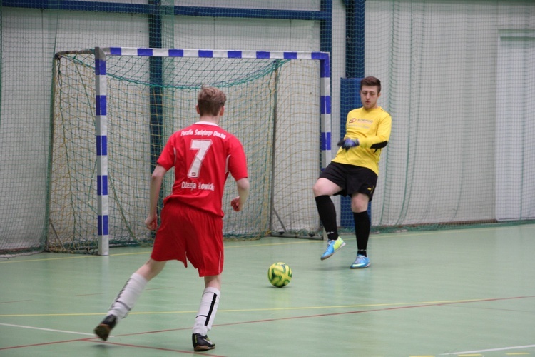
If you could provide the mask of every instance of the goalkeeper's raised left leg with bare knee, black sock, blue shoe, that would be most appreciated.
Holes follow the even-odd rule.
[[[336,209],[330,198],[330,196],[342,191],[342,187],[336,183],[338,180],[342,180],[342,174],[336,169],[333,164],[327,166],[312,187],[317,213],[320,215],[320,221],[327,232],[328,239],[327,248],[323,252],[321,260],[329,258],[338,249],[345,246],[345,242],[338,236]]]

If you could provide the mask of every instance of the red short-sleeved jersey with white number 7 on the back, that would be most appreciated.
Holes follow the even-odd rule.
[[[169,198],[223,217],[223,189],[230,173],[238,181],[248,177],[240,141],[217,124],[199,121],[170,136],[158,164],[175,167]]]

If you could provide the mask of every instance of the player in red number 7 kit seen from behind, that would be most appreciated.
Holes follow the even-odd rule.
[[[133,273],[113,301],[106,318],[95,328],[104,341],[111,329],[133,308],[148,281],[167,261],[188,261],[204,278],[205,290],[193,326],[193,348],[215,348],[207,336],[218,310],[223,271],[223,188],[230,173],[238,196],[230,202],[241,211],[249,195],[245,152],[233,134],[220,128],[225,111],[223,91],[203,86],[198,94],[200,120],[170,136],[151,176],[148,229],[158,228],[156,205],[165,173],[174,169],[173,192],[163,201],[161,225],[156,232],[151,258]]]

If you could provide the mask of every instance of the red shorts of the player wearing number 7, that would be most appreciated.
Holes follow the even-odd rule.
[[[199,276],[219,275],[224,260],[223,218],[166,199],[151,258],[182,261],[185,267],[190,261]]]

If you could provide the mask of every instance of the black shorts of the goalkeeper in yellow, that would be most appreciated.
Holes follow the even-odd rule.
[[[333,161],[322,171],[320,178],[327,178],[342,187],[342,191],[335,195],[352,196],[353,193],[364,193],[370,197],[370,201],[372,201],[375,185],[377,185],[377,174],[374,171],[362,166]]]

